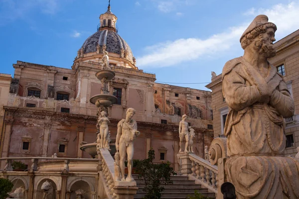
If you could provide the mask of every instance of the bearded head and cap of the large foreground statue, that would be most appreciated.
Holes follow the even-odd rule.
[[[244,50],[250,47],[254,48],[266,58],[273,57],[276,54],[273,47],[276,30],[276,25],[268,21],[268,16],[258,15],[242,34],[240,38],[241,46]]]

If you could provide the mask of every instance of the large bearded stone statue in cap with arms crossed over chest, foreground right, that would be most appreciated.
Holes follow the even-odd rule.
[[[275,56],[274,23],[258,15],[241,36],[244,55],[222,71],[223,96],[230,107],[225,176],[237,199],[298,199],[299,161],[284,157],[284,117],[294,115],[287,85],[267,59]]]

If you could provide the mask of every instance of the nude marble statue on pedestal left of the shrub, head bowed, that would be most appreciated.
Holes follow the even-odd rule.
[[[132,167],[133,167],[133,155],[134,155],[134,140],[135,137],[140,135],[137,130],[137,122],[132,119],[135,114],[134,108],[128,108],[126,113],[126,119],[122,119],[117,124],[116,135],[116,150],[120,152],[120,168],[122,181],[133,182]],[[125,158],[126,152],[128,157],[128,176],[125,179]]]

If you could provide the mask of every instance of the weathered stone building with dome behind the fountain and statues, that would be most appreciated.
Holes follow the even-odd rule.
[[[193,151],[203,157],[213,139],[210,92],[155,83],[154,74],[138,69],[116,21],[110,7],[101,14],[98,31],[78,50],[72,69],[17,61],[13,79],[0,75],[0,157],[89,157],[80,146],[96,141],[97,108],[89,99],[100,94],[95,74],[105,50],[116,74],[109,91],[118,98],[108,110],[112,143],[118,121],[133,107],[141,131],[134,159],[146,158],[152,147],[155,162],[169,161],[177,169],[178,123],[187,114],[196,133]]]

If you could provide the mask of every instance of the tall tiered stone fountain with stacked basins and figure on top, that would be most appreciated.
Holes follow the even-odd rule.
[[[107,112],[108,107],[117,102],[117,98],[109,94],[108,81],[115,77],[115,73],[111,71],[109,65],[108,52],[104,51],[102,58],[102,70],[96,73],[96,77],[101,81],[101,92],[98,95],[93,96],[90,102],[95,104],[98,108],[98,121],[97,121],[97,142],[84,144],[80,147],[82,151],[88,152],[93,158],[95,158],[101,148],[110,150],[110,131],[108,130],[108,124],[110,123]]]

